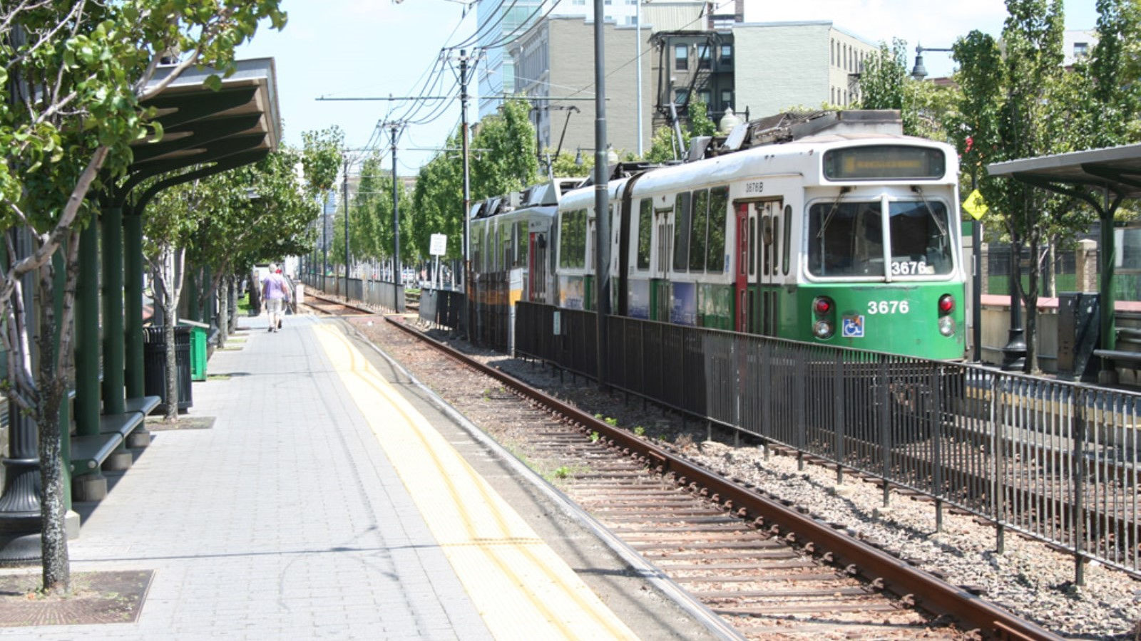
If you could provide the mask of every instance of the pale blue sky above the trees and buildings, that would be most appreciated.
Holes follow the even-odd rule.
[[[589,1],[589,0],[588,0]],[[653,0],[650,0],[653,1]],[[1066,29],[1093,29],[1095,0],[1065,0]],[[468,40],[476,29],[475,11],[464,17],[461,0],[282,0],[289,23],[282,31],[262,24],[244,44],[240,58],[273,57],[284,140],[301,145],[301,132],[340,127],[346,146],[364,149],[378,144],[387,149],[389,130],[378,137],[378,123],[411,120],[397,139],[397,173],[414,176],[445,145],[460,122],[459,63],[438,64],[442,49]],[[731,0],[729,0],[731,10]],[[950,47],[971,30],[1000,35],[1006,17],[1003,0],[745,0],[745,21],[784,22],[831,19],[849,33],[873,42],[907,41],[908,65],[916,43]],[[645,50],[644,50],[645,52]],[[451,52],[452,57],[456,52]],[[613,55],[607,52],[607,55]],[[633,57],[633,52],[620,52]],[[592,58],[584,64],[592,64]],[[931,76],[949,75],[949,54],[928,52]],[[631,68],[631,67],[628,67]],[[439,82],[426,87],[426,81]],[[469,92],[475,95],[471,74]],[[632,81],[633,79],[631,79]],[[609,81],[608,81],[609,82]],[[408,117],[410,102],[318,100],[317,98],[414,97],[452,95],[439,108],[423,108]],[[468,102],[475,121],[477,100]],[[385,154],[383,165],[391,167]]]

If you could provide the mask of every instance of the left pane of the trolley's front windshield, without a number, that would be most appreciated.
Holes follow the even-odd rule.
[[[808,212],[808,269],[816,276],[883,273],[880,202],[820,202]]]

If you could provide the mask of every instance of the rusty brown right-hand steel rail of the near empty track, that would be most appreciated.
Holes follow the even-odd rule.
[[[598,432],[606,443],[623,454],[640,460],[659,473],[673,473],[679,485],[707,496],[722,509],[735,516],[751,520],[756,527],[767,527],[772,535],[801,544],[806,550],[822,554],[832,563],[845,567],[849,573],[867,578],[875,586],[882,586],[899,594],[905,602],[915,603],[934,614],[946,614],[964,624],[969,630],[997,639],[1054,640],[1061,636],[1025,620],[987,602],[963,587],[950,585],[934,575],[909,566],[906,561],[839,532],[826,522],[802,514],[795,509],[759,494],[707,470],[704,470],[672,453],[647,443],[625,430],[604,421],[559,399],[534,389],[518,379],[478,363],[460,351],[393,318],[386,320],[430,344],[440,352],[483,374],[492,376],[511,389],[529,397],[551,409],[564,414],[583,431]]]

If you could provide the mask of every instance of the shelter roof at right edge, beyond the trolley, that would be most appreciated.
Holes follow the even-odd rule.
[[[1091,187],[1122,198],[1141,197],[1141,145],[1123,145],[987,165],[990,176],[1010,176],[1051,190]]]

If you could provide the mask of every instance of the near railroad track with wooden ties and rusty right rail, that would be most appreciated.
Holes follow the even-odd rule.
[[[393,324],[512,392],[496,400],[528,404],[532,455],[568,462],[563,481],[570,498],[745,636],[1057,638],[842,526]]]

